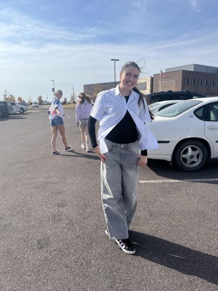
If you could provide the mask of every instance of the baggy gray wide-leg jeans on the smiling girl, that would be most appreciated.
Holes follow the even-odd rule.
[[[101,163],[101,195],[109,237],[127,239],[137,207],[139,144],[105,142],[109,151]]]

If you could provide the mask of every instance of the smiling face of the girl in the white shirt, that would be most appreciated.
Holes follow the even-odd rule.
[[[120,93],[123,96],[130,95],[130,90],[137,85],[139,80],[140,70],[131,65],[125,68],[123,72],[120,73]]]

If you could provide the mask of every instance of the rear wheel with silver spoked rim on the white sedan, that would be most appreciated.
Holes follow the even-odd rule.
[[[189,140],[182,143],[175,151],[174,162],[183,171],[200,170],[208,160],[208,150],[200,141]]]

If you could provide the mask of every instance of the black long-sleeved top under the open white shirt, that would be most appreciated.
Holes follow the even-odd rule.
[[[128,102],[128,98],[129,96],[125,96],[126,103]],[[96,121],[97,119],[93,118],[92,116],[89,117],[88,131],[93,148],[97,146],[95,135]],[[105,138],[117,144],[130,144],[138,140],[136,124],[128,110],[126,111],[124,118],[121,119],[121,121],[109,132]],[[147,156],[147,150],[142,150],[141,155]]]

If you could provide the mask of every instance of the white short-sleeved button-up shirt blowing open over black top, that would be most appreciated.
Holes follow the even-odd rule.
[[[138,130],[140,150],[158,147],[155,136],[144,124],[151,122],[148,106],[144,102],[144,110],[143,104],[139,106],[138,101],[139,94],[131,90],[128,102],[126,103],[125,97],[120,93],[119,85],[97,95],[90,115],[99,120],[100,128],[97,139],[102,154],[108,152],[108,147],[104,141],[105,137],[124,118],[127,110]]]

